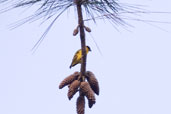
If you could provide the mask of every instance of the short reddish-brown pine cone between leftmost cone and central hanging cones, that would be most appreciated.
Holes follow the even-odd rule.
[[[68,98],[71,100],[71,98],[74,96],[74,94],[78,91],[78,88],[80,86],[80,81],[75,80],[71,83],[69,90],[68,90]]]

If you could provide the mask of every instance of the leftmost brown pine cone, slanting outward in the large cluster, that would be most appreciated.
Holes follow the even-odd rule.
[[[74,80],[76,80],[79,76],[79,72],[74,72],[74,74],[71,74],[70,76],[66,77],[59,85],[59,89],[62,89],[68,84],[71,84]]]

